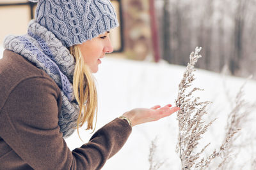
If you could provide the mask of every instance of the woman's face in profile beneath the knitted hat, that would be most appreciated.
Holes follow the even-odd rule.
[[[79,45],[81,53],[83,55],[84,62],[90,67],[92,73],[97,73],[98,66],[101,63],[100,59],[105,56],[106,53],[113,52],[113,46],[109,39],[109,31],[104,34],[87,40]]]

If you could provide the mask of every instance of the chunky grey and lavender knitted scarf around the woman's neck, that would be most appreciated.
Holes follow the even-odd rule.
[[[7,36],[4,48],[19,53],[45,71],[61,89],[62,107],[58,124],[63,137],[70,136],[77,126],[79,106],[74,97],[72,80],[75,60],[61,41],[45,27],[31,20],[28,34]]]

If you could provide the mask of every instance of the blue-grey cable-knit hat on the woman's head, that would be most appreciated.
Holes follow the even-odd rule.
[[[117,27],[109,0],[29,0],[38,2],[35,20],[64,46],[81,44]]]

